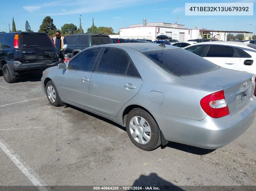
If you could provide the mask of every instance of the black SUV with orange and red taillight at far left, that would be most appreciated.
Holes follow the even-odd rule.
[[[46,33],[0,33],[0,70],[7,83],[14,83],[19,74],[60,62],[58,49]]]

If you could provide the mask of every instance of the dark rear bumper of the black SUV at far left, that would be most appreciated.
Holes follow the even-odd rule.
[[[20,71],[20,70],[35,70],[35,69],[46,69],[52,66],[56,66],[62,62],[62,59],[58,59],[58,61],[54,62],[38,62],[38,63],[30,63],[30,64],[22,64],[21,62],[8,62],[8,65],[11,71]],[[13,74],[14,75],[14,74]]]

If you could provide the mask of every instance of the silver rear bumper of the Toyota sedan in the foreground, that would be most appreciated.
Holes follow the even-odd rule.
[[[256,97],[239,113],[214,119],[206,116],[203,120],[152,112],[165,140],[200,148],[216,149],[229,144],[243,134],[254,122]]]

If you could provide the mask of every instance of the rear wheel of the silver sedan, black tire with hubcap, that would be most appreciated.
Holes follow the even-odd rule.
[[[160,130],[155,119],[145,110],[135,108],[126,117],[126,131],[138,148],[151,151],[161,144]]]

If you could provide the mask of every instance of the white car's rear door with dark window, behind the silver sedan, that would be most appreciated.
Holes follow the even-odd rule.
[[[228,69],[234,69],[240,63],[240,57],[233,46],[210,45],[205,59]]]

